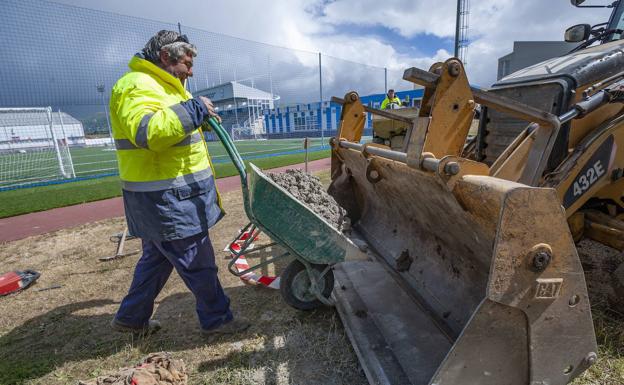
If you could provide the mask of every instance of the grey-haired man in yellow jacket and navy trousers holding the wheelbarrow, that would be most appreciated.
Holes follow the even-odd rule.
[[[233,333],[208,229],[224,215],[201,123],[217,116],[212,102],[193,98],[195,46],[185,35],[160,31],[136,54],[112,89],[111,123],[128,229],[141,238],[139,259],[113,328],[139,334],[160,329],[154,300],[175,268],[196,298],[204,334]]]

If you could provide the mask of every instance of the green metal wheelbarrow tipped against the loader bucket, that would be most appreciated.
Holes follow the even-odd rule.
[[[241,233],[247,236],[240,247],[234,248],[232,245],[235,243],[230,243],[233,255],[228,264],[230,273],[240,277],[278,260],[294,258],[280,275],[280,292],[286,303],[300,310],[332,305],[332,266],[345,260],[351,242],[257,166],[249,163],[245,169],[243,159],[227,131],[215,118],[210,118],[208,123],[240,174],[243,204],[249,218],[249,224]],[[260,231],[267,234],[272,242],[252,247]],[[241,237],[237,240],[240,241]],[[235,270],[236,262],[243,255],[277,245],[285,252],[243,271]]]

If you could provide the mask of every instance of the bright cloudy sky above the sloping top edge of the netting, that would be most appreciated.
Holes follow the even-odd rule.
[[[455,0],[60,0],[85,8],[183,25],[279,46],[322,52],[402,71],[453,53]],[[588,0],[587,4],[609,0]],[[561,40],[577,23],[606,21],[609,10],[568,0],[472,0],[468,71],[487,86],[514,40]]]

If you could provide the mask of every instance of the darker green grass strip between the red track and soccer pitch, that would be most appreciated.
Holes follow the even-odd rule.
[[[309,154],[309,160],[329,157],[329,150]],[[304,154],[291,154],[254,159],[260,168],[268,169],[302,163]],[[246,162],[249,163],[249,162]],[[215,163],[215,175],[227,177],[237,175],[232,163]],[[51,186],[32,187],[0,192],[0,218],[49,210],[56,207],[92,202],[121,195],[118,177],[106,177]]]

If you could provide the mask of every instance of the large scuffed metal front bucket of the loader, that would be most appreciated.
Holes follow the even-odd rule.
[[[334,293],[371,383],[565,384],[595,361],[554,190],[336,143],[330,194],[376,260],[338,265]]]

